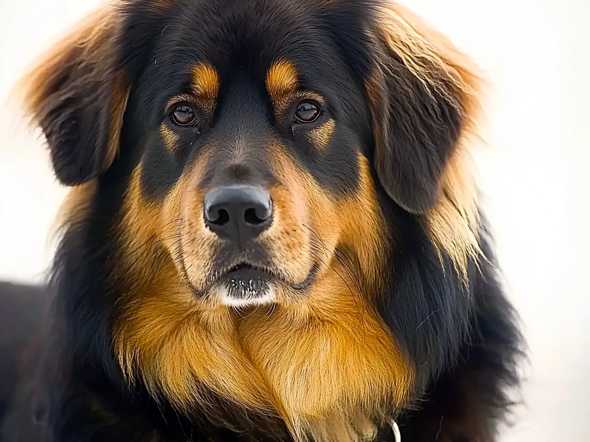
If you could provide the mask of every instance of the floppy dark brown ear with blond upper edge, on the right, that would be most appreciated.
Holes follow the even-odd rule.
[[[376,14],[365,79],[375,169],[399,206],[422,214],[437,204],[448,160],[473,128],[480,79],[447,38],[401,6]]]

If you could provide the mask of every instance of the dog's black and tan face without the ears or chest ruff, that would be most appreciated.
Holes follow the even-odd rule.
[[[298,314],[342,293],[339,253],[374,291],[385,223],[362,78],[316,8],[260,6],[166,12],[127,106],[142,155],[126,232],[131,247],[161,238],[202,309]]]

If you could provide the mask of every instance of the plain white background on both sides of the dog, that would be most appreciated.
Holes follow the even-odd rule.
[[[240,1],[240,0],[237,0]],[[506,442],[590,440],[590,0],[405,0],[487,71],[479,179],[530,347]],[[4,104],[96,0],[0,0],[0,279],[39,281],[65,189]],[[411,441],[409,441],[411,442]]]

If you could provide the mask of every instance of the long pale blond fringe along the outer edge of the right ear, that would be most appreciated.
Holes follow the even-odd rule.
[[[442,170],[437,202],[425,213],[435,245],[467,281],[468,262],[485,259],[478,242],[480,218],[470,148],[482,140],[481,96],[487,86],[477,66],[444,35],[406,8],[386,2],[378,9],[381,38],[425,90],[434,90],[461,118],[458,140]],[[382,67],[387,69],[386,66]]]

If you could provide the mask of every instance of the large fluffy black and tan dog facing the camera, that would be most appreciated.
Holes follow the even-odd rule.
[[[18,86],[71,190],[11,415],[63,442],[496,440],[523,338],[470,169],[481,77],[386,0],[89,15]]]

